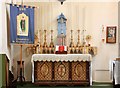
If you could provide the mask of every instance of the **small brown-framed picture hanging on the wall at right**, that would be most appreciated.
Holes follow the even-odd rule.
[[[106,28],[106,43],[116,43],[116,26],[107,26]]]

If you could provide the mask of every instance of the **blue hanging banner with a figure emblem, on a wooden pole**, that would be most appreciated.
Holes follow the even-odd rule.
[[[10,5],[10,42],[34,43],[34,8]]]

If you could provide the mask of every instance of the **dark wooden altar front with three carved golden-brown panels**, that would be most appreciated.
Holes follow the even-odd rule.
[[[89,62],[34,62],[35,83],[44,85],[90,85]]]

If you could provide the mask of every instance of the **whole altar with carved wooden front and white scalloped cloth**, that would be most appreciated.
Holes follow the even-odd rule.
[[[32,83],[92,85],[90,54],[33,54]]]

